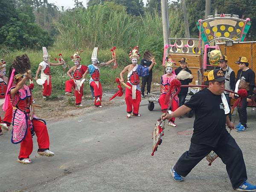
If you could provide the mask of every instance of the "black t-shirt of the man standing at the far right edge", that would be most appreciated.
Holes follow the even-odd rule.
[[[253,88],[255,86],[255,73],[250,68],[247,69],[246,71],[239,70],[237,72],[236,82],[239,79],[250,83],[249,84],[250,87],[249,87],[249,91],[248,91],[248,96],[247,96],[247,97],[250,97],[253,94]]]

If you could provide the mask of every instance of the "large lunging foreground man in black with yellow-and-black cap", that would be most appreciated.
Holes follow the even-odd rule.
[[[244,157],[234,138],[228,133],[226,125],[234,128],[227,116],[230,113],[224,95],[225,78],[222,70],[208,73],[209,87],[199,91],[184,105],[171,114],[163,114],[163,119],[170,119],[195,111],[194,131],[189,150],[181,155],[171,169],[174,180],[183,181],[183,177],[211,151],[221,158],[226,165],[233,189],[253,191],[256,186],[247,182]],[[211,101],[211,102],[209,102]]]

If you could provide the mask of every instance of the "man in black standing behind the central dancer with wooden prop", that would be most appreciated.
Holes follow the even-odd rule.
[[[148,52],[149,51],[145,51],[144,55],[147,54]],[[144,67],[149,67],[151,65],[152,61],[146,60],[144,55],[143,55],[143,59],[140,61],[140,65],[142,65]],[[151,82],[152,82],[152,74],[153,74],[153,70],[151,69],[149,71],[148,76],[142,77],[142,85],[141,85],[141,95],[142,95],[142,97],[145,97],[145,93],[144,92],[145,92],[146,84],[147,84],[147,94],[150,93]]]

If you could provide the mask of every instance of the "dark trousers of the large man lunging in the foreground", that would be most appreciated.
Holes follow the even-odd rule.
[[[234,189],[247,180],[242,151],[227,131],[221,136],[215,147],[191,143],[189,151],[180,156],[174,166],[174,170],[181,176],[186,177],[210,151],[215,151],[226,165],[227,174]]]

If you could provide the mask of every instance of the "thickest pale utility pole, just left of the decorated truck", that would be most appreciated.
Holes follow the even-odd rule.
[[[168,45],[169,38],[169,20],[168,20],[168,2],[161,0],[162,23],[163,23],[163,44]]]

